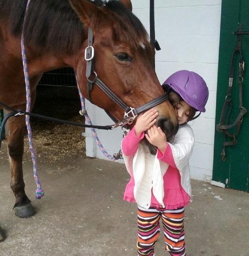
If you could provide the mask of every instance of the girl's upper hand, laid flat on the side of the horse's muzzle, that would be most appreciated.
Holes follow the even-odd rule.
[[[149,109],[141,115],[138,115],[135,124],[135,135],[140,137],[141,134],[151,128],[155,122],[158,112],[155,109]]]

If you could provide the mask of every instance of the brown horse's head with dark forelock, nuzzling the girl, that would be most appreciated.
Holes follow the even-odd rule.
[[[69,2],[83,23],[86,38],[87,28],[93,30],[94,71],[114,94],[128,106],[137,108],[164,93],[155,73],[155,49],[141,21],[131,12],[129,0],[110,0],[105,5],[102,1],[94,1],[95,4],[88,0]],[[83,57],[86,47],[87,40],[77,63],[77,74],[81,91],[87,98]],[[91,91],[91,101],[115,119],[122,120],[123,109],[96,85]],[[159,113],[156,125],[166,133],[168,141],[172,140],[178,130],[174,108],[168,100],[154,108]],[[150,144],[148,147],[155,154],[155,148]]]

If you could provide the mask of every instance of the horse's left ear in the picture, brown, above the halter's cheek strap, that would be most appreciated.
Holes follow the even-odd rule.
[[[86,25],[90,26],[94,24],[94,18],[100,18],[103,13],[101,10],[96,7],[93,3],[87,0],[69,0],[72,8],[77,13],[81,22]]]

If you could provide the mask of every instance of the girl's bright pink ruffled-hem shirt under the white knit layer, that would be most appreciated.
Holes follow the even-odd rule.
[[[143,139],[144,133],[140,137],[135,135],[135,129],[133,128],[128,135],[122,141],[123,153],[127,156],[135,155],[139,142]],[[172,150],[170,146],[165,149],[164,154],[158,150],[157,157],[159,160],[168,163],[168,169],[163,176],[164,182],[164,198],[163,202],[166,209],[178,209],[187,206],[190,201],[190,196],[185,192],[181,185],[181,175],[175,166]],[[130,181],[128,182],[125,192],[124,200],[128,202],[136,202],[134,198],[134,177],[131,175]],[[155,199],[153,192],[151,191],[151,207],[162,208],[162,205]]]

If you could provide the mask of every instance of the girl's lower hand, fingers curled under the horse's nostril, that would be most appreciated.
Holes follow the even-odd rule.
[[[145,135],[148,142],[157,147],[162,154],[167,148],[167,137],[160,127],[153,125],[148,129],[148,134]]]

